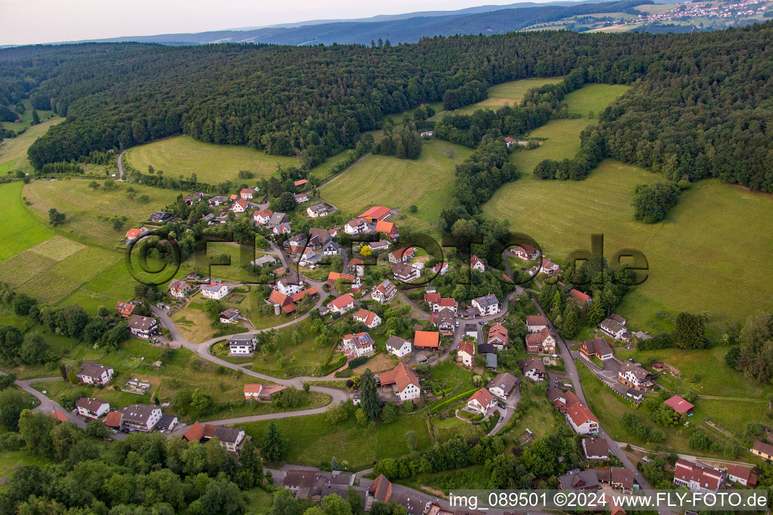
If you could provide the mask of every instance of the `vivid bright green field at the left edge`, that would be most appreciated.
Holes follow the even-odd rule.
[[[22,182],[0,185],[0,196],[4,199],[0,216],[5,221],[5,230],[0,236],[0,263],[53,236],[53,231],[25,207],[23,186]]]

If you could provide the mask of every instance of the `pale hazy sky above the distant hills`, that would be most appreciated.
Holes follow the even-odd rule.
[[[313,19],[452,11],[475,5],[508,5],[518,1],[0,0],[0,45],[206,32]]]

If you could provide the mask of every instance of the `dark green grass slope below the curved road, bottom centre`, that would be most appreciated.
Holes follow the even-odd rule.
[[[333,456],[339,463],[349,462],[349,470],[369,469],[380,459],[403,456],[409,452],[404,433],[416,432],[418,450],[430,446],[427,422],[421,415],[400,415],[397,422],[378,424],[376,428],[358,425],[355,407],[348,406],[349,418],[339,427],[330,425],[325,415],[305,415],[302,418],[278,418],[274,422],[288,445],[285,461],[298,465],[318,466],[330,463]],[[240,424],[261,446],[268,421]]]

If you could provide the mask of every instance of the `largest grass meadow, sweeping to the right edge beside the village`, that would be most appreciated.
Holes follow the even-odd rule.
[[[662,222],[635,221],[635,185],[659,180],[659,175],[608,159],[584,181],[527,176],[503,185],[483,211],[508,219],[511,228],[532,236],[543,252],[560,259],[574,249],[590,249],[591,233],[604,234],[605,256],[620,249],[640,250],[649,276],[626,294],[617,310],[628,318],[628,326],[671,330],[679,311],[707,312],[708,335],[718,341],[725,324],[744,320],[750,306],[773,308],[768,288],[773,280],[773,198],[713,179],[699,181],[683,192]],[[734,256],[719,249],[743,252]]]

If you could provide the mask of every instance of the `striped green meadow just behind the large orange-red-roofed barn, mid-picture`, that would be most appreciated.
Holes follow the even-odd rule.
[[[400,208],[391,222],[434,232],[441,209],[451,201],[455,166],[471,153],[461,145],[431,140],[424,142],[421,158],[416,161],[372,154],[319,192],[351,215],[359,215],[372,205]],[[414,214],[407,212],[412,204],[418,208]]]

